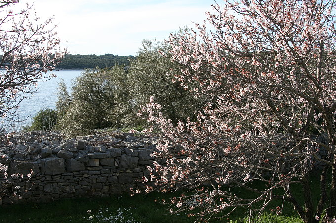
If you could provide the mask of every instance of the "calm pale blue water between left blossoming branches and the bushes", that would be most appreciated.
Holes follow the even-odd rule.
[[[18,109],[18,117],[20,120],[25,120],[25,124],[30,124],[32,118],[45,108],[55,108],[57,101],[57,87],[60,79],[62,78],[67,84],[68,90],[70,90],[72,80],[78,77],[82,70],[60,70],[53,71],[57,76],[45,82],[38,84],[38,91],[31,96],[30,99],[24,99]]]

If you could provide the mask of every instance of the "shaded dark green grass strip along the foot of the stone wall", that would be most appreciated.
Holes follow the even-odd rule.
[[[163,219],[166,219],[164,222],[171,223],[190,222],[190,218],[186,216],[170,215],[167,206],[155,202],[154,200],[158,199],[159,195],[161,198],[167,197],[168,199],[169,197],[168,194],[159,193],[135,196],[124,194],[105,198],[64,199],[48,204],[2,206],[0,223],[83,223],[91,222],[88,218],[92,215],[95,216],[92,220],[97,220],[96,217],[100,212],[104,214],[104,217],[108,217],[111,213],[112,216],[116,216],[122,212],[121,216],[124,220],[134,218],[131,222],[160,223]],[[108,208],[107,212],[106,208]],[[89,213],[88,210],[90,210]],[[118,219],[114,222],[118,222]]]

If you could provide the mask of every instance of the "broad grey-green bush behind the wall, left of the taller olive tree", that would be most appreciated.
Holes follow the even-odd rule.
[[[125,117],[130,113],[130,104],[127,72],[123,66],[86,70],[73,82],[71,93],[64,82],[58,89],[58,127],[66,135],[128,124]]]

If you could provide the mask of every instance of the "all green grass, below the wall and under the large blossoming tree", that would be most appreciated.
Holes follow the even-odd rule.
[[[312,180],[314,176],[312,177]],[[316,179],[316,176],[315,176]],[[318,182],[312,182],[313,196],[317,202],[319,194]],[[255,183],[253,183],[255,184]],[[254,185],[262,187],[261,184]],[[251,195],[241,188],[233,189],[236,194]],[[48,204],[18,204],[1,206],[0,223],[191,223],[194,218],[187,217],[186,213],[171,215],[167,205],[155,200],[169,200],[172,196],[179,196],[180,192],[162,194],[114,195],[103,198],[76,198],[63,199]],[[293,193],[303,202],[302,189],[299,185],[293,186]],[[281,201],[271,201],[265,212],[254,219],[255,223],[302,223],[297,213],[289,203],[284,203],[281,215],[271,212],[271,208],[281,206]],[[238,208],[229,218],[213,219],[211,223],[247,223],[246,208]]]

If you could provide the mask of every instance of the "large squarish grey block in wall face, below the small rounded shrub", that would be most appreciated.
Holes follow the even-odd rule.
[[[63,158],[47,157],[41,161],[41,173],[45,175],[56,175],[65,172],[65,161]]]

